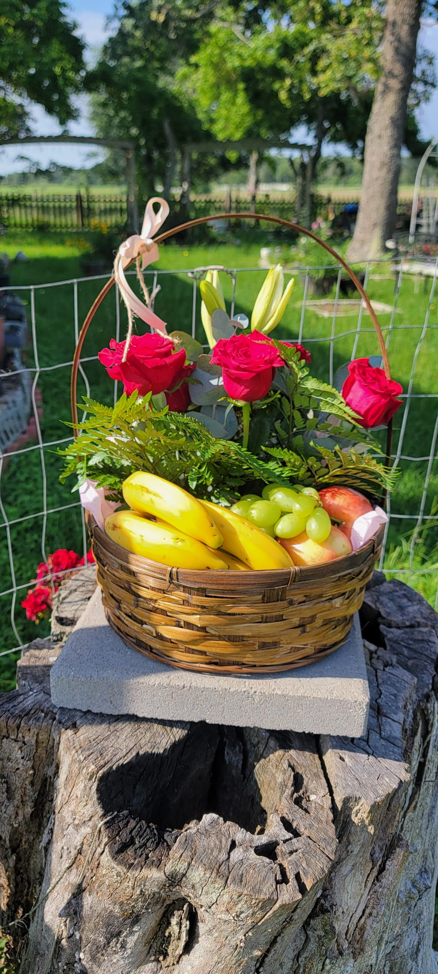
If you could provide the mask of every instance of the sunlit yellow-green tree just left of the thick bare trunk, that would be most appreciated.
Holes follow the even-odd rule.
[[[358,151],[378,74],[382,17],[372,0],[229,0],[180,73],[202,123],[219,139],[293,141],[309,148],[292,163],[303,219],[325,142]],[[300,206],[298,205],[298,208]]]

